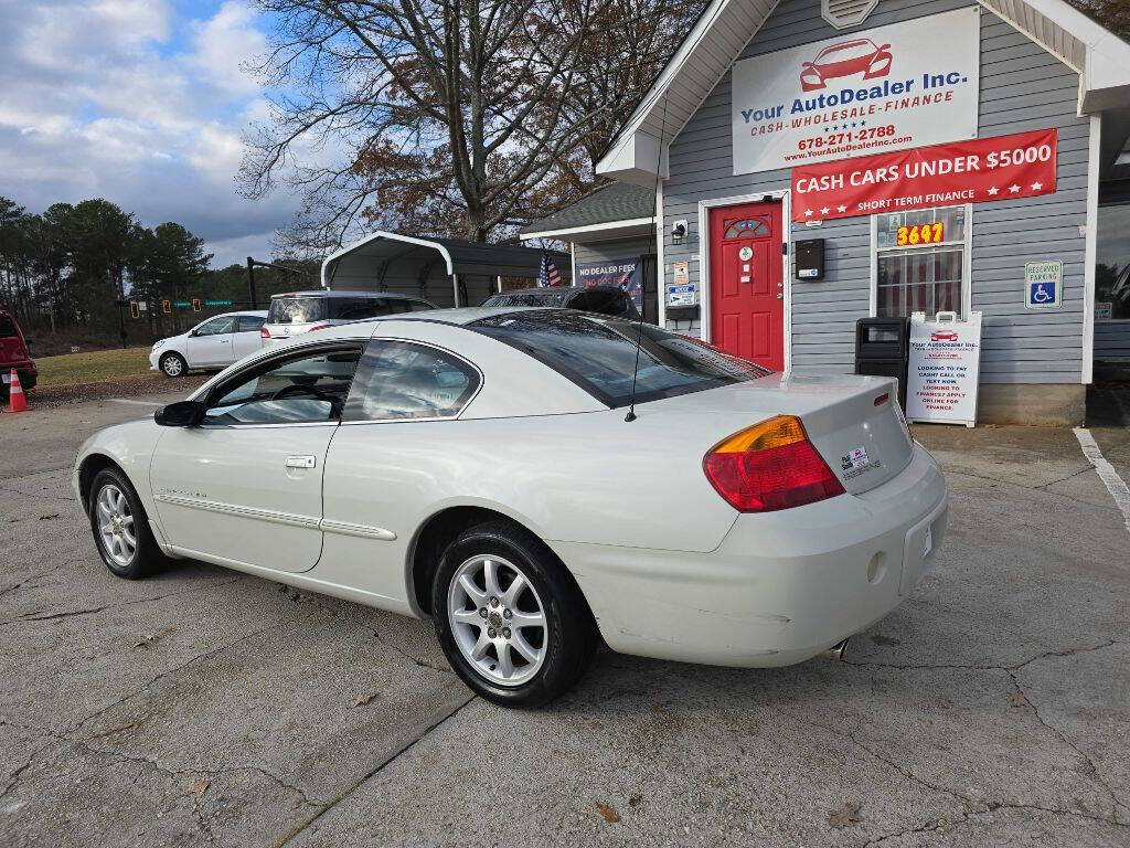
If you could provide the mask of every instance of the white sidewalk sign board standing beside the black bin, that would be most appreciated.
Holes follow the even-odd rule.
[[[981,373],[981,313],[958,321],[956,312],[939,312],[933,321],[911,315],[906,419],[972,427],[977,418]]]

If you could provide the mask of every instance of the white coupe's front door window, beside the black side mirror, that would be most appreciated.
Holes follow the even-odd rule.
[[[254,369],[208,400],[203,424],[302,424],[341,417],[360,348],[289,356]],[[266,370],[263,370],[266,369]]]

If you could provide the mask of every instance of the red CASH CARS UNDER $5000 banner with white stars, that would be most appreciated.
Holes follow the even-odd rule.
[[[797,165],[792,219],[981,204],[1055,191],[1055,130]]]

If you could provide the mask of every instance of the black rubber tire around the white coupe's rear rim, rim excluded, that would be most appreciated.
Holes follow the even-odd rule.
[[[457,573],[467,563],[481,556],[497,556],[520,571],[536,592],[524,595],[524,598],[532,598],[544,612],[545,628],[536,631],[533,637],[540,634],[537,648],[539,651],[545,649],[544,657],[529,680],[516,685],[496,683],[472,665],[457,643],[449,615],[449,591]],[[519,605],[520,603],[515,603],[515,608]],[[432,580],[432,611],[440,646],[451,667],[475,692],[504,707],[539,707],[565,693],[584,674],[599,643],[592,613],[573,576],[545,543],[521,527],[505,521],[476,525],[461,533],[447,546]],[[484,630],[481,628],[478,631],[480,638]],[[493,654],[486,659],[490,656],[497,658],[496,649],[488,650]],[[519,661],[524,661],[516,651],[513,656]]]

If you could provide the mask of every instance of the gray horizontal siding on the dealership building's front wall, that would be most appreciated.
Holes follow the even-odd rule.
[[[850,32],[895,24],[970,6],[967,0],[881,0],[859,27],[836,31],[819,15],[818,0],[782,0],[742,51],[742,59]],[[733,174],[730,72],[703,101],[670,146],[670,179],[663,187],[666,274],[689,262],[699,282],[698,202],[780,191],[788,168]],[[981,15],[980,137],[1054,127],[1059,130],[1057,191],[1038,198],[974,204],[972,308],[983,313],[982,382],[1075,382],[1083,375],[1084,250],[1089,122],[1077,114],[1078,75],[990,11]],[[683,243],[671,241],[670,223],[685,218]],[[788,224],[786,224],[788,226]],[[826,222],[805,234],[825,240],[826,276],[793,280],[792,367],[797,373],[843,373],[854,369],[854,327],[870,313],[871,219]],[[801,235],[800,237],[805,237]],[[1024,262],[1063,262],[1063,306],[1025,313]],[[695,330],[699,323],[669,322]]]

